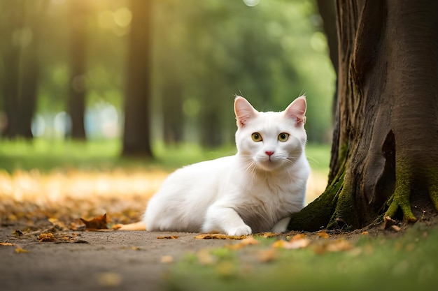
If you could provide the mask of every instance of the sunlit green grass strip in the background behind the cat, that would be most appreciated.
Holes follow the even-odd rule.
[[[37,168],[48,172],[55,168],[108,170],[114,167],[162,167],[173,170],[183,165],[197,163],[220,156],[235,154],[234,146],[205,150],[196,144],[183,144],[178,147],[153,145],[155,158],[120,157],[119,140],[93,142],[73,142],[62,140],[8,141],[0,140],[0,168],[6,172],[32,170]],[[330,148],[327,145],[309,145],[307,155],[312,167],[327,171]]]

